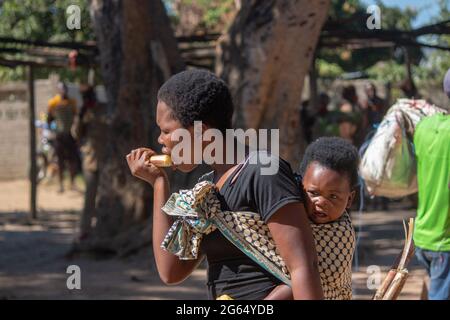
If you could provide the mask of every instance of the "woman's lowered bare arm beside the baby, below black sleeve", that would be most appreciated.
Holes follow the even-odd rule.
[[[289,203],[268,220],[270,232],[291,274],[294,299],[323,299],[314,238],[302,203]]]

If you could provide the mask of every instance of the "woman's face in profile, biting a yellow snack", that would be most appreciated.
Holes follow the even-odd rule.
[[[175,145],[183,141],[172,141],[172,134],[175,130],[182,129],[183,126],[181,125],[181,122],[173,115],[172,109],[163,101],[158,101],[158,105],[156,106],[156,124],[161,130],[158,137],[158,143],[163,146],[161,151],[163,154],[171,155]],[[194,128],[190,127],[184,129],[190,132],[191,159],[190,161],[184,161],[183,163],[176,165],[175,168],[182,172],[191,172],[197,167],[197,165],[194,164]],[[180,156],[183,156],[183,152],[180,153]]]

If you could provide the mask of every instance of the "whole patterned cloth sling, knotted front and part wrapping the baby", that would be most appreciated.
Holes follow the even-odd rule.
[[[203,236],[219,229],[244,254],[290,286],[289,271],[261,216],[248,211],[221,210],[217,192],[211,181],[201,181],[193,189],[173,193],[162,210],[175,222],[161,247],[180,260],[197,259]],[[327,225],[311,226],[325,298],[350,299],[354,233],[348,214]]]

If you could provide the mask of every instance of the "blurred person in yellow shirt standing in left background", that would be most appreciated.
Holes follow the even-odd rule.
[[[68,97],[67,86],[63,82],[58,83],[58,94],[48,102],[47,121],[49,125],[52,121],[56,123],[55,153],[58,159],[60,192],[64,192],[63,177],[66,162],[69,166],[72,188],[80,163],[78,147],[70,132],[76,113],[76,101]]]

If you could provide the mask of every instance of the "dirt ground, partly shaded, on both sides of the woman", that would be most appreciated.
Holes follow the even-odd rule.
[[[127,259],[68,259],[83,203],[79,191],[57,193],[55,184],[38,187],[38,219],[28,213],[27,181],[0,181],[0,300],[1,299],[206,299],[204,266],[181,285],[166,286],[157,275],[151,250]],[[403,245],[402,220],[414,216],[394,203],[390,211],[353,214],[361,225],[353,273],[354,299],[370,299],[367,288],[379,266],[384,278]],[[150,235],[149,235],[150,236]],[[81,289],[69,290],[70,265],[81,269]],[[373,267],[372,267],[373,268]],[[376,267],[375,267],[376,268]],[[400,299],[419,299],[425,272],[415,259]]]

